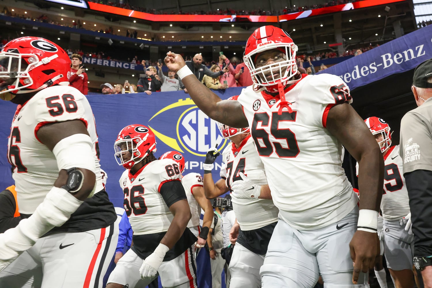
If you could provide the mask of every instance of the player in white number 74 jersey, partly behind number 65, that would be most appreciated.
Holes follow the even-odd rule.
[[[238,96],[229,98],[236,100]],[[225,168],[221,169],[216,184],[213,182],[211,172],[213,164],[204,164],[204,191],[207,198],[215,198],[232,190],[231,185],[236,180],[241,180],[241,173],[254,180],[257,184],[250,184],[244,190],[250,189],[249,199],[239,199],[232,193],[232,207],[237,218],[235,229],[231,229],[234,237],[237,238],[229,272],[231,280],[230,288],[261,287],[259,276],[260,268],[264,263],[264,256],[273,229],[277,223],[279,210],[274,206],[272,200],[258,199],[261,194],[270,194],[268,190],[264,165],[260,160],[257,150],[254,147],[254,140],[251,138],[248,128],[232,128],[219,123],[222,137],[229,138],[232,145],[226,147],[222,152]],[[215,149],[211,149],[206,158],[216,158],[219,155]],[[209,162],[207,159],[206,162]],[[245,181],[242,181],[245,182]]]

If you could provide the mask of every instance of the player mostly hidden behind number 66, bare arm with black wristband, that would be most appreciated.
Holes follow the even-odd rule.
[[[213,206],[204,195],[203,177],[198,173],[189,173],[183,176],[184,157],[180,152],[165,152],[159,159],[172,159],[178,162],[181,174],[181,184],[186,193],[187,203],[191,208],[192,218],[187,223],[187,228],[198,238],[196,248],[202,248],[206,244],[210,225],[213,221]],[[201,208],[204,210],[203,227],[200,227]]]

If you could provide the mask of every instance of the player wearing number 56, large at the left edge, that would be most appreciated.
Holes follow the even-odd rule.
[[[42,288],[102,287],[117,216],[102,182],[92,109],[68,86],[70,59],[51,41],[22,37],[3,47],[0,65],[0,98],[18,104],[8,160],[24,218],[0,234],[0,270],[25,261],[18,256],[26,251],[43,269]]]

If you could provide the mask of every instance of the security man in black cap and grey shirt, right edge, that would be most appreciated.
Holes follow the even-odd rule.
[[[399,154],[410,198],[413,262],[424,287],[432,287],[432,59],[416,67],[411,90],[419,107],[402,118]]]

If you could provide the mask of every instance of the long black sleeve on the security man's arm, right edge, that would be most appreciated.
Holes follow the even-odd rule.
[[[414,256],[432,255],[432,171],[415,170],[403,175],[410,198]]]

